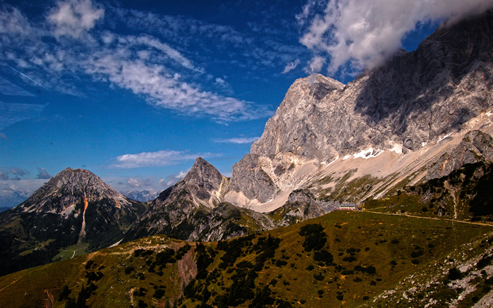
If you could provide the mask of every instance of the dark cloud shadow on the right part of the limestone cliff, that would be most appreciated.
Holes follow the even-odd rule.
[[[492,37],[492,11],[451,27],[440,27],[416,51],[408,54],[403,51],[384,66],[360,75],[358,78],[368,76],[368,80],[356,100],[355,111],[366,117],[368,125],[383,125],[405,138],[412,134],[412,130],[406,133],[410,125],[425,132],[431,130],[432,124],[438,126],[438,131],[430,131],[430,138],[449,127],[459,128],[477,111],[486,109],[488,102],[479,97],[454,101],[456,106],[446,106],[455,109],[450,115],[449,110],[439,113],[433,106],[453,94],[455,86],[471,71],[483,75],[485,82],[491,84],[492,74],[487,68],[493,63]],[[465,91],[473,87],[468,85]],[[434,121],[443,123],[437,125]],[[379,130],[384,131],[384,127]],[[410,136],[403,142],[406,147],[416,149],[420,142],[427,141],[417,139]]]

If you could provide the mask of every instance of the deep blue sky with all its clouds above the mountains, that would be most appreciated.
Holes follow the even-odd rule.
[[[0,198],[67,167],[118,191],[163,190],[197,156],[230,176],[294,80],[348,82],[463,10],[402,1],[362,24],[386,1],[367,2],[0,1]]]

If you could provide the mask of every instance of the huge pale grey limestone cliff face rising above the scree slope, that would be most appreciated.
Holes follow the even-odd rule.
[[[307,164],[358,152],[412,154],[468,130],[493,106],[492,33],[489,12],[439,27],[416,51],[400,51],[347,85],[322,75],[296,80],[251,154],[233,166],[226,200],[263,204],[302,187],[295,174]]]

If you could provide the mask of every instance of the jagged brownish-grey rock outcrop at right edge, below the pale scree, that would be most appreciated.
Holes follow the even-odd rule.
[[[493,161],[493,138],[481,130],[473,130],[465,135],[458,147],[443,154],[428,170],[426,179],[442,178],[465,164]]]

